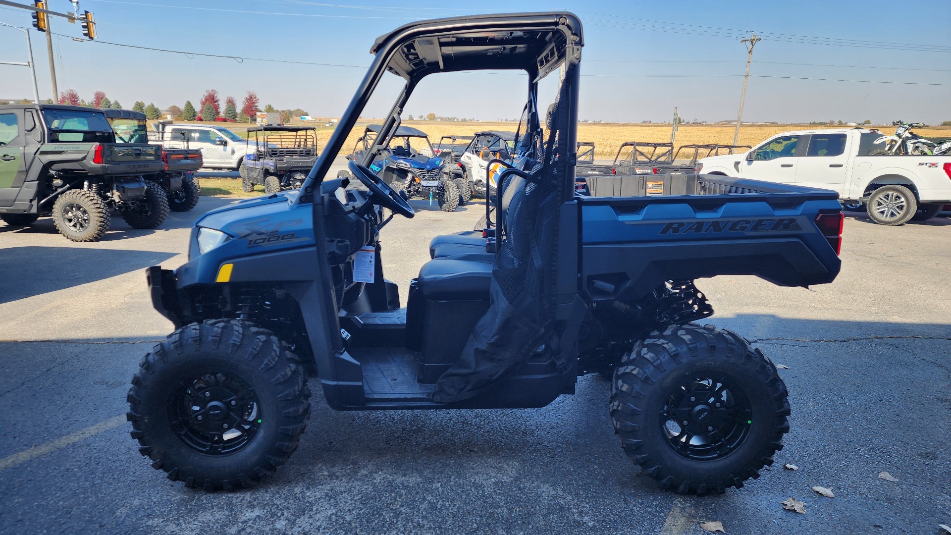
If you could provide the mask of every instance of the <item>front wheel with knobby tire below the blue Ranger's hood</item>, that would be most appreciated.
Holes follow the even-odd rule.
[[[230,490],[287,462],[310,416],[308,398],[297,357],[271,331],[207,320],[146,354],[126,419],[139,452],[168,479]]]

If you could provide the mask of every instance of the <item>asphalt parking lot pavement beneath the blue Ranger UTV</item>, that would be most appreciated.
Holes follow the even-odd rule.
[[[191,222],[228,202],[203,198],[156,230],[116,217],[93,244],[69,242],[49,218],[0,223],[0,532],[698,534],[699,522],[720,521],[728,533],[928,534],[951,524],[948,218],[896,228],[847,218],[832,285],[698,281],[717,310],[710,323],[788,367],[793,411],[776,465],[722,496],[678,496],[640,476],[596,376],[532,410],[340,413],[318,392],[300,448],[262,485],[209,494],[171,483],[138,454],[123,416],[140,358],[171,330],[144,268],[184,263]],[[472,228],[484,209],[413,204],[416,218],[382,232],[404,302],[430,238]],[[805,514],[784,510],[788,497]]]

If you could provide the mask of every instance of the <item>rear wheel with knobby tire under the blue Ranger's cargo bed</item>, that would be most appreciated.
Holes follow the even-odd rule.
[[[624,356],[611,385],[621,447],[660,485],[723,493],[757,478],[789,431],[786,385],[740,336],[668,327]]]

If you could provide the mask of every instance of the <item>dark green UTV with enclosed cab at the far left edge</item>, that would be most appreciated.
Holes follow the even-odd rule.
[[[161,149],[116,143],[100,109],[0,106],[0,219],[27,226],[49,215],[74,242],[102,238],[113,210],[132,228],[157,228],[168,200],[144,176],[162,170]]]

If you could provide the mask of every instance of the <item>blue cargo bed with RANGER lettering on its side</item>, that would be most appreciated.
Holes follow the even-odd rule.
[[[637,197],[576,197],[583,284],[595,300],[639,297],[668,280],[757,275],[806,287],[839,273],[835,191],[719,175],[646,180],[661,184]]]

